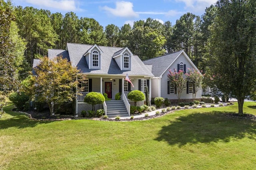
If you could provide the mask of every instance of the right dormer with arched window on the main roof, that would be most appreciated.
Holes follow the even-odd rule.
[[[115,59],[118,64],[120,70],[131,70],[131,57],[133,56],[132,52],[128,49],[128,47],[117,51],[113,55],[113,59]]]

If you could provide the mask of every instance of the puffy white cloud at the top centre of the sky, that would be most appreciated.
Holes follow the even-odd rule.
[[[133,11],[133,4],[131,2],[121,1],[116,2],[116,8],[110,8],[108,6],[102,7],[103,10],[109,12],[114,16],[119,17],[138,17],[139,15]]]

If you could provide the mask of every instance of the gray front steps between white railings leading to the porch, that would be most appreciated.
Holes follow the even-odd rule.
[[[108,117],[129,116],[123,100],[109,100],[109,101],[105,101],[105,102],[107,105]]]

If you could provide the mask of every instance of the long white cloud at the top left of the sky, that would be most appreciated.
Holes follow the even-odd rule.
[[[75,0],[26,0],[27,3],[37,6],[60,9],[63,11],[76,11]]]

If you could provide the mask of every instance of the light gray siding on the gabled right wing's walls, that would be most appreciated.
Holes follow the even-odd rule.
[[[160,81],[161,81],[160,96],[161,97],[168,98],[168,99],[177,99],[176,94],[167,94],[168,93],[167,92],[167,88],[168,88],[167,74],[169,73],[169,69],[173,71],[175,68],[177,70],[178,64],[180,64],[180,62],[183,62],[184,64],[186,64],[186,71],[188,70],[188,68],[193,68],[192,65],[189,63],[189,61],[186,59],[186,57],[183,54],[181,54],[180,57],[178,57],[178,59],[176,59],[176,61],[174,61],[174,63],[168,68],[168,70],[166,70],[166,72],[164,72],[164,74],[162,75],[162,78],[160,79]],[[181,99],[192,99],[192,94],[187,94],[186,89],[185,89],[184,91],[182,91],[180,98]],[[201,98],[201,88],[198,90],[198,92],[196,92],[196,98]]]

